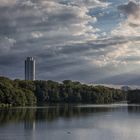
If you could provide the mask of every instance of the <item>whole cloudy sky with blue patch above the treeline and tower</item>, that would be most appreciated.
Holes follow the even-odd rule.
[[[0,75],[140,84],[139,0],[0,0]]]

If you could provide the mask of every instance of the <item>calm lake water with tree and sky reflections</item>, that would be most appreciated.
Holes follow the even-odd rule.
[[[51,105],[0,110],[0,140],[140,140],[140,106]]]

